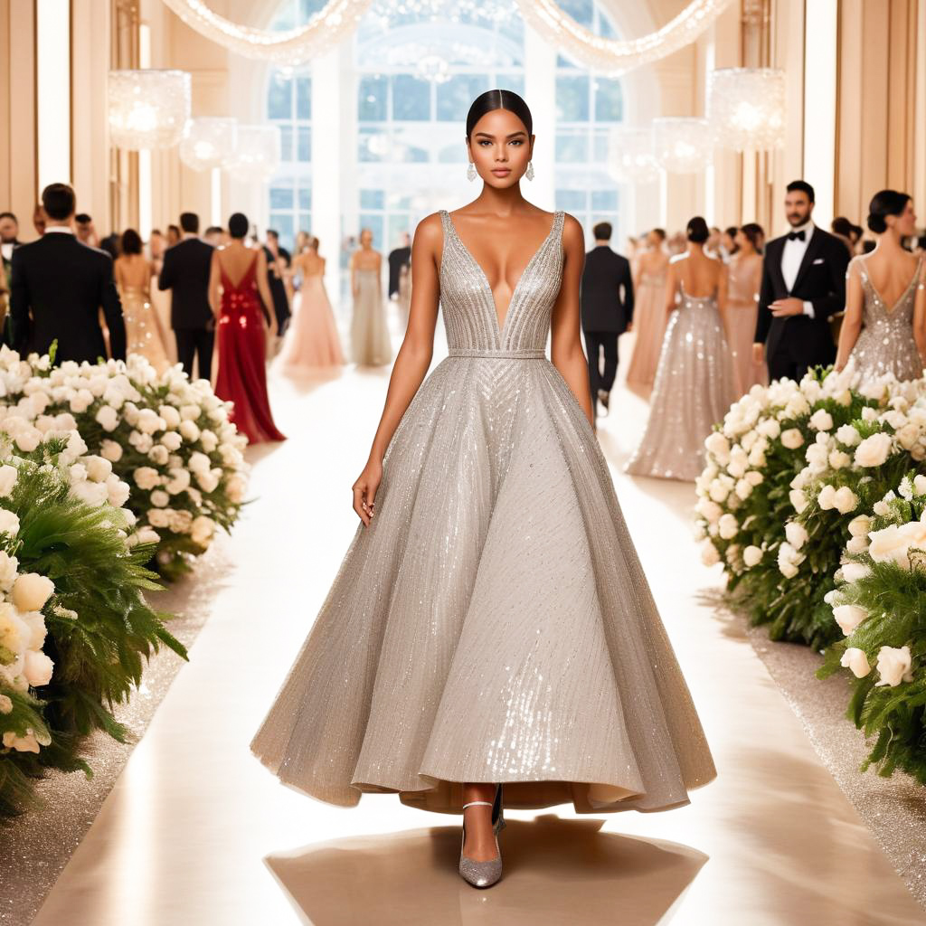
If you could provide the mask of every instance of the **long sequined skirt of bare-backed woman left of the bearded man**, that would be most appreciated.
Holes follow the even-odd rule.
[[[646,431],[627,464],[635,476],[694,481],[707,435],[737,398],[716,297],[681,295],[662,342]]]

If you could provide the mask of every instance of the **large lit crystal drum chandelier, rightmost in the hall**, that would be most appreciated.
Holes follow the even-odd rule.
[[[707,118],[717,143],[732,151],[768,151],[784,144],[784,71],[721,68],[708,82]]]

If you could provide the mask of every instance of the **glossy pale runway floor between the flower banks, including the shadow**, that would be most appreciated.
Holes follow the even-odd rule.
[[[257,453],[236,566],[39,926],[926,922],[742,626],[707,604],[719,577],[697,557],[691,485],[619,472],[645,413],[626,392],[600,439],[719,778],[668,813],[510,811],[504,877],[479,891],[457,876],[458,820],[392,795],[329,807],[264,770],[248,742],[355,531],[385,384],[274,380],[291,438]]]

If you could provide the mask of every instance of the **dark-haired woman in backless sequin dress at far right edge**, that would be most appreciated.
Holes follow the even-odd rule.
[[[926,261],[902,244],[916,233],[916,221],[907,194],[882,190],[871,200],[868,224],[878,235],[878,246],[849,263],[836,369],[848,364],[863,380],[885,373],[898,380],[918,380],[923,375]]]

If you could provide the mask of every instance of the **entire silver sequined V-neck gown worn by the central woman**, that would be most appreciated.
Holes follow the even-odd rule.
[[[499,326],[441,213],[450,356],[422,383],[251,748],[331,804],[663,810],[716,770],[582,407],[544,356],[564,214]]]

